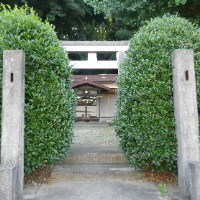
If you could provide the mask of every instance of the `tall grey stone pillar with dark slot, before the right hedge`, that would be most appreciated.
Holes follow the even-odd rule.
[[[199,159],[199,124],[192,49],[173,52],[173,83],[176,135],[178,139],[179,191],[189,197],[189,162]]]

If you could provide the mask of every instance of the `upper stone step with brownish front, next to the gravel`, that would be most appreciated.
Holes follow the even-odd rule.
[[[58,164],[128,163],[118,146],[73,146]]]

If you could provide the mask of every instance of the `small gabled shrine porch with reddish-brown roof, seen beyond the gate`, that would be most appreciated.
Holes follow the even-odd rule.
[[[110,110],[110,101],[105,99],[109,95],[115,95],[114,89],[95,83],[88,77],[74,83],[72,87],[77,95],[76,121],[101,121],[105,117],[101,107]]]

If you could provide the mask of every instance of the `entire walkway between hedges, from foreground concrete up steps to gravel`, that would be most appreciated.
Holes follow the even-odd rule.
[[[75,126],[69,155],[55,166],[51,184],[26,186],[24,200],[182,200],[177,188],[162,195],[156,184],[138,181],[111,126]]]

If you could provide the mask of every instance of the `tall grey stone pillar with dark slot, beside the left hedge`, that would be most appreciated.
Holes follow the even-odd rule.
[[[3,54],[1,165],[12,165],[16,168],[17,184],[14,187],[17,191],[17,200],[23,199],[24,75],[23,51],[5,50]]]

